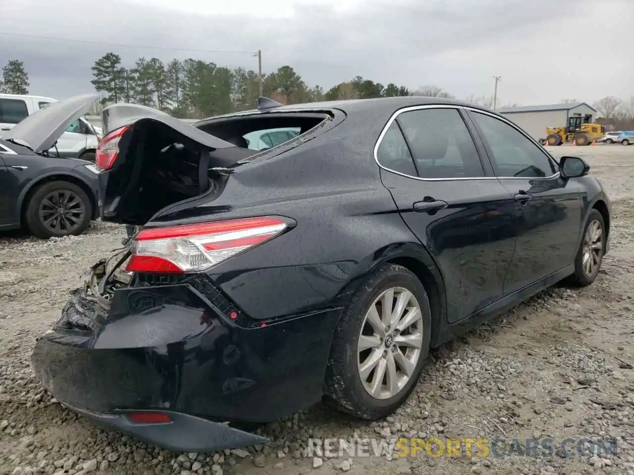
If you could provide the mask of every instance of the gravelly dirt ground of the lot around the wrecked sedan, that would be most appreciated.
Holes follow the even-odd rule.
[[[557,287],[432,353],[398,414],[365,424],[323,407],[261,429],[268,447],[198,455],[105,433],[51,400],[32,376],[34,338],[58,317],[81,271],[124,231],[38,241],[0,236],[0,474],[587,474],[634,475],[634,147],[552,148],[587,158],[612,198],[611,253],[595,284]],[[345,457],[302,453],[309,437],[572,438],[616,441],[617,453],[541,457]],[[576,443],[576,442],[575,442]],[[567,447],[574,448],[575,443]],[[579,444],[579,447],[587,447]],[[314,466],[319,466],[314,468]]]

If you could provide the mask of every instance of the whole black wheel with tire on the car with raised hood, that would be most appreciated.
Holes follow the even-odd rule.
[[[37,238],[81,234],[91,221],[92,206],[81,187],[67,181],[48,182],[32,194],[26,222]]]

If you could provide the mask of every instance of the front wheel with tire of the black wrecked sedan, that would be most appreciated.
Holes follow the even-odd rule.
[[[603,262],[606,238],[603,216],[597,210],[590,211],[581,245],[574,260],[571,283],[585,287],[594,282]]]

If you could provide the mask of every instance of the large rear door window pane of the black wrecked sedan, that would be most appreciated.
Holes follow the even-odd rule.
[[[426,179],[483,177],[484,168],[460,112],[451,108],[399,114],[418,176]]]

